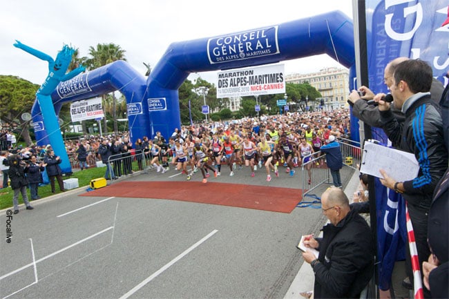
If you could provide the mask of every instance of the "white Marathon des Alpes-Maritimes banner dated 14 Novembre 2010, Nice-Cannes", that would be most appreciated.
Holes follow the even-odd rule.
[[[217,76],[218,99],[285,93],[283,64],[225,70]]]

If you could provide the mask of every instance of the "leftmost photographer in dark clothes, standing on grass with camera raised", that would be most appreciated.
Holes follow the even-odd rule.
[[[28,195],[26,194],[26,186],[28,186],[28,180],[25,173],[28,173],[30,164],[22,161],[20,155],[11,155],[7,160],[8,166],[10,166],[10,180],[11,188],[14,191],[12,196],[12,204],[14,204],[14,213],[19,213],[19,193],[22,194],[23,203],[26,205],[27,210],[34,209],[28,202]]]

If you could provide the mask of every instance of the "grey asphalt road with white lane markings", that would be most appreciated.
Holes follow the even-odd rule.
[[[151,170],[124,180],[176,184],[185,180],[177,173]],[[210,181],[266,184],[260,170],[254,178],[245,168],[228,174]],[[343,181],[350,174],[343,171]],[[299,188],[300,173],[276,179],[270,184]],[[33,202],[34,210],[21,207],[12,219],[1,211],[0,298],[284,298],[303,263],[300,235],[318,233],[325,222],[321,209],[287,214],[77,196],[85,192]]]

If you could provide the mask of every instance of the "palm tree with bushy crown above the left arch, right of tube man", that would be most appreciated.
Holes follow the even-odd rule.
[[[125,58],[125,50],[123,50],[119,45],[110,43],[110,44],[97,44],[97,48],[94,48],[93,46],[89,47],[89,55],[92,56],[92,59],[88,59],[88,68],[94,69],[99,68],[100,66],[106,66],[106,64],[111,64],[113,61],[117,60],[124,60]],[[112,109],[112,115],[113,115],[113,121],[114,121],[114,131],[115,133],[118,132],[118,126],[117,126],[117,113],[116,113],[116,106],[117,106],[117,99],[115,98],[115,94],[112,93],[113,97],[113,109]],[[104,102],[105,96],[102,95],[102,99]],[[107,123],[106,123],[106,113],[104,117],[104,130],[105,133],[108,133]]]

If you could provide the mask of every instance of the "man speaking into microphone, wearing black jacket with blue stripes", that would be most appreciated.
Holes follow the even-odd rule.
[[[419,173],[413,180],[399,182],[381,170],[381,183],[402,193],[407,201],[408,213],[414,231],[419,264],[428,260],[430,249],[427,242],[428,213],[435,186],[448,168],[448,151],[443,140],[443,121],[439,105],[430,95],[432,68],[426,61],[408,59],[398,64],[394,70],[390,90],[393,105],[405,114],[405,121],[394,117],[390,103],[383,101],[382,94],[374,100],[379,103],[383,131],[392,144],[399,149],[414,154],[419,163]],[[408,249],[408,247],[405,247]],[[406,255],[408,277],[413,278],[410,254]],[[424,296],[429,292],[424,289]]]

